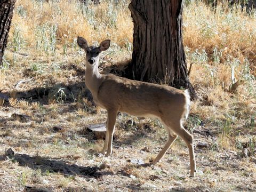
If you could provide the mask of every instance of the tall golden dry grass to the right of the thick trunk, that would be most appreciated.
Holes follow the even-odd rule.
[[[203,2],[190,3],[183,10],[184,44],[190,50],[203,49],[220,62],[230,58],[245,58],[255,62],[256,14],[247,14],[240,6],[230,9],[218,5],[215,9]],[[254,63],[255,64],[255,63]]]

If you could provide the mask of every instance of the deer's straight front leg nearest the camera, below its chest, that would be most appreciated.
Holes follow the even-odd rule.
[[[108,123],[108,125],[107,125],[108,150],[107,150],[106,157],[108,157],[112,153],[112,142],[113,142],[113,134],[115,131],[116,116],[117,116],[117,110],[113,110],[113,109],[108,110],[108,122],[107,122]],[[107,138],[107,136],[106,136],[106,138]],[[105,145],[106,145],[106,142],[107,142],[107,139],[105,140]]]

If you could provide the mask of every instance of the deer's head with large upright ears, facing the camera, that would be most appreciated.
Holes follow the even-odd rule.
[[[86,66],[94,66],[99,63],[99,54],[102,51],[106,51],[110,46],[110,40],[107,39],[100,43],[99,47],[89,46],[86,39],[83,37],[77,37],[77,44],[86,52],[85,62]]]

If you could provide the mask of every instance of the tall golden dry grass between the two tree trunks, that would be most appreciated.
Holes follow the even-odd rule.
[[[19,29],[21,39],[28,47],[38,49],[41,46],[45,51],[47,47],[52,49],[51,29],[55,28],[57,47],[71,45],[77,36],[85,37],[90,43],[111,38],[113,42],[123,47],[126,41],[132,42],[133,24],[127,6],[127,1],[102,1],[96,6],[93,3],[82,4],[75,0],[49,3],[18,0],[10,39],[14,38],[17,33],[15,31]],[[48,41],[49,46],[46,46]]]

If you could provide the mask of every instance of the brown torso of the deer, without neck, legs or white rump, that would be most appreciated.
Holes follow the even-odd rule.
[[[98,91],[98,100],[106,109],[136,116],[159,116],[170,108],[182,113],[185,96],[182,90],[170,86],[132,81],[106,75]]]

